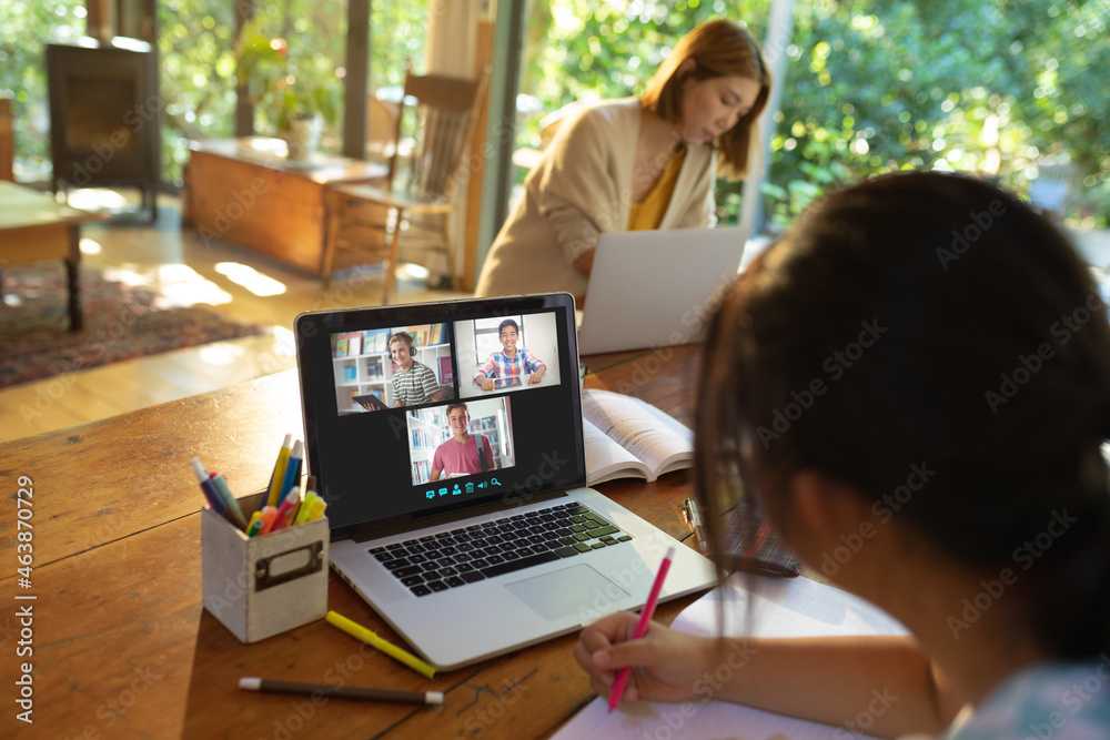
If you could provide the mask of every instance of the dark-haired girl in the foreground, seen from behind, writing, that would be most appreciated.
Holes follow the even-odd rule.
[[[951,174],[830,195],[738,280],[699,394],[698,490],[743,481],[803,560],[910,631],[746,639],[715,698],[845,726],[884,691],[874,734],[1110,737],[1110,325],[1049,222]],[[719,558],[728,503],[704,498]],[[598,693],[634,666],[625,700],[692,698],[728,649],[629,640],[635,621],[583,630]]]

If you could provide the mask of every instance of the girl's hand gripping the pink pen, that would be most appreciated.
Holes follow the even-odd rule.
[[[643,638],[633,640],[637,621],[636,615],[620,611],[598,619],[578,635],[574,658],[589,673],[594,690],[608,697],[617,672],[632,666],[622,701],[683,701],[693,697],[694,685],[713,660],[714,640],[676,632],[654,621]]]

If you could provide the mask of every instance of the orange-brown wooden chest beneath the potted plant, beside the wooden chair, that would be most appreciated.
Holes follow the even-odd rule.
[[[314,154],[285,159],[279,139],[192,142],[182,223],[212,240],[322,274],[324,187],[385,176],[382,164]]]

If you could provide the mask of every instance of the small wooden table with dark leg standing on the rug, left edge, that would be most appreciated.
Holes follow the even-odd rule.
[[[62,260],[69,282],[71,331],[84,325],[79,274],[81,224],[102,219],[103,214],[71,209],[46,193],[0,181],[0,268]]]

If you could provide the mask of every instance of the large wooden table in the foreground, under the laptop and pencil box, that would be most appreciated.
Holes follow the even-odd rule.
[[[639,396],[692,424],[696,351],[589,357],[588,387]],[[296,374],[0,445],[0,728],[43,738],[539,738],[592,697],[576,636],[426,680],[316,621],[243,645],[201,607],[200,503],[189,459],[236,489],[261,489],[282,433],[302,427]],[[17,574],[19,476],[33,483],[31,587]],[[606,495],[689,543],[680,517],[688,470]],[[334,572],[329,607],[398,641]],[[33,596],[18,600],[16,596]],[[662,605],[669,621],[693,601]],[[17,609],[30,606],[30,632]],[[33,655],[17,657],[26,641]],[[33,666],[33,728],[16,680]],[[442,707],[246,693],[241,676],[445,692]],[[11,732],[0,730],[0,734]]]

